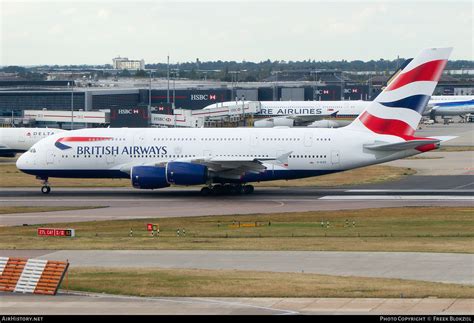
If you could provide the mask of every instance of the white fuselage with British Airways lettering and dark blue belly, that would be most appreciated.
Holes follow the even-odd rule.
[[[267,168],[264,174],[240,179],[252,182],[317,176],[419,153],[364,149],[365,144],[376,141],[403,139],[344,128],[83,129],[38,142],[20,157],[17,167],[43,178],[118,178],[128,177],[130,166],[171,161],[192,163],[210,158],[237,163],[248,158],[264,160],[291,153],[283,162],[263,162]]]

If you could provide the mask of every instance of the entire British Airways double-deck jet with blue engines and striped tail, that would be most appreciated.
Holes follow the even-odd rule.
[[[35,144],[17,161],[49,177],[130,178],[141,189],[205,185],[251,193],[251,182],[340,172],[435,149],[452,137],[415,136],[451,53],[423,50],[349,126],[315,128],[83,129]],[[226,184],[224,186],[224,184]]]

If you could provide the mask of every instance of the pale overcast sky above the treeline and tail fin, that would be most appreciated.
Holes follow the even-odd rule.
[[[473,59],[473,1],[0,0],[0,65],[370,60],[453,46]]]

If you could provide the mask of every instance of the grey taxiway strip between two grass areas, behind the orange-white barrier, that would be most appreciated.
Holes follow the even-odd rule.
[[[159,243],[159,241],[157,241]],[[74,268],[181,268],[311,273],[474,285],[474,254],[235,250],[28,250],[24,256],[69,261]],[[0,256],[19,256],[0,250]]]

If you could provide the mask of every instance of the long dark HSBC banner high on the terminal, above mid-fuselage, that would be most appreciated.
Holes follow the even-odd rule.
[[[230,100],[230,90],[227,89],[210,89],[210,90],[170,90],[170,103],[176,100],[175,107],[177,109],[202,109],[210,104],[224,102]],[[151,92],[151,103],[158,106],[167,102],[168,96],[166,90],[153,90]]]

